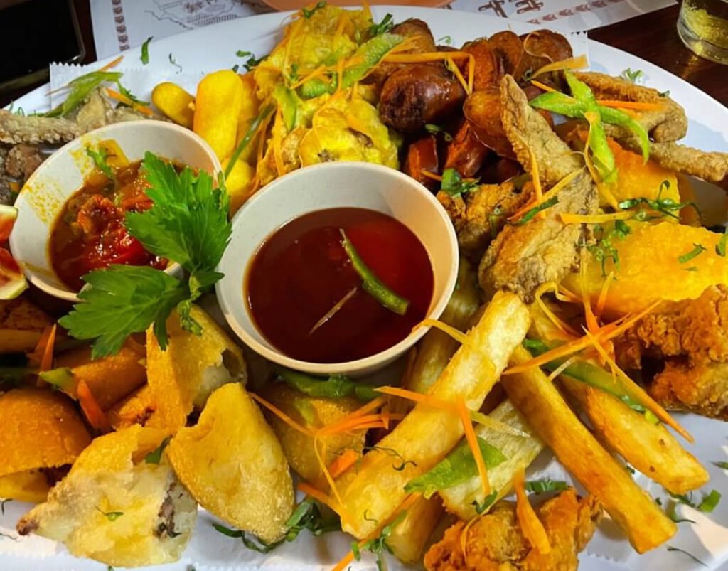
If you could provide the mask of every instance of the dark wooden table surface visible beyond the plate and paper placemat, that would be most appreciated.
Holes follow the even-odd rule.
[[[74,0],[74,4],[86,45],[84,63],[91,63],[96,59],[96,51],[89,2]],[[684,46],[676,30],[678,12],[678,5],[664,8],[590,31],[589,37],[655,63],[728,105],[728,66],[698,58]],[[0,98],[0,106],[20,95],[23,93]]]

